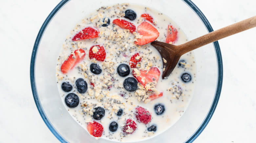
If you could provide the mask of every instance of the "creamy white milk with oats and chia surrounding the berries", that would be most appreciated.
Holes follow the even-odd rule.
[[[123,6],[122,6],[123,5]],[[128,4],[127,4],[128,5]],[[124,8],[123,8],[124,7]],[[113,30],[113,24],[112,21],[117,18],[114,11],[121,12],[125,11],[126,9],[132,9],[137,13],[137,18],[134,21],[130,21],[128,19],[125,19],[124,17],[121,17],[121,19],[125,19],[127,21],[132,22],[136,25],[136,27],[143,21],[143,19],[140,18],[140,15],[143,13],[150,14],[154,20],[156,21],[156,25],[154,25],[157,30],[160,33],[160,36],[157,40],[159,41],[165,41],[167,27],[169,24],[174,26],[178,30],[178,40],[174,43],[175,45],[182,44],[187,41],[187,38],[183,31],[180,29],[180,27],[175,24],[169,17],[172,17],[172,15],[163,15],[161,12],[153,10],[151,8],[145,8],[138,5],[131,5],[125,6],[125,4],[119,4],[113,7],[106,7],[105,9],[99,9],[98,11],[85,16],[85,18],[79,22],[74,29],[71,31],[71,34],[67,36],[67,39],[63,43],[62,47],[60,45],[60,56],[58,57],[57,66],[56,66],[56,79],[57,79],[57,86],[60,93],[60,100],[63,101],[64,106],[70,113],[70,115],[77,121],[79,125],[81,125],[85,130],[87,127],[87,123],[91,121],[97,121],[99,122],[103,128],[104,132],[101,138],[107,139],[107,140],[113,140],[113,141],[120,141],[120,142],[133,142],[133,141],[141,141],[144,139],[148,139],[149,137],[154,137],[156,135],[161,134],[168,128],[171,128],[172,125],[180,119],[180,117],[185,112],[191,98],[193,95],[194,90],[194,84],[196,81],[196,63],[193,52],[189,52],[187,54],[184,54],[181,56],[182,60],[185,60],[187,63],[185,64],[184,68],[179,67],[178,65],[176,68],[172,71],[172,73],[169,75],[167,79],[162,79],[162,71],[163,71],[163,64],[162,64],[162,58],[159,54],[159,52],[150,44],[143,45],[141,47],[136,47],[135,44],[133,44],[134,35],[131,33],[128,33],[128,39],[126,38],[123,40],[123,42],[117,44],[114,43],[107,43],[104,39],[104,34],[106,35],[115,35]],[[104,13],[103,13],[104,12]],[[100,13],[100,14],[99,14]],[[113,16],[114,15],[114,16]],[[96,17],[96,18],[95,18]],[[102,27],[98,24],[96,24],[97,19],[101,20],[104,17],[110,18],[110,25],[108,27]],[[88,18],[88,20],[87,20]],[[95,19],[93,19],[95,18]],[[84,27],[88,26],[94,26],[97,29],[99,29],[100,37],[90,40],[81,40],[81,41],[72,41],[72,38],[74,35],[82,30]],[[69,27],[67,27],[69,29]],[[117,31],[123,30],[122,28],[116,26]],[[111,31],[112,30],[112,31]],[[112,33],[111,33],[112,32]],[[127,34],[127,33],[126,33]],[[127,48],[125,42],[129,43]],[[113,79],[113,82],[111,84],[111,87],[101,89],[99,87],[102,84],[103,81],[100,81],[101,79],[104,80],[108,78],[108,75],[106,75],[108,70],[103,70],[98,75],[92,74],[90,71],[90,64],[91,63],[97,63],[102,67],[104,65],[104,62],[95,61],[92,59],[89,59],[89,49],[93,45],[103,45],[106,51],[106,64],[109,64],[110,62],[113,62],[113,65],[111,67],[114,69],[114,72],[111,73],[111,80]],[[132,47],[132,48],[131,48]],[[67,74],[62,74],[60,71],[60,66],[63,63],[64,60],[67,59],[67,57],[71,54],[72,51],[75,51],[77,48],[82,48],[85,50],[86,56],[83,61],[81,61],[76,68],[69,71]],[[121,54],[118,54],[121,53]],[[157,98],[155,100],[152,100],[148,103],[144,103],[142,101],[138,101],[137,98],[134,96],[134,92],[128,92],[124,88],[122,88],[123,81],[127,77],[133,77],[132,73],[130,73],[126,77],[121,77],[117,74],[117,67],[121,63],[129,65],[129,60],[131,56],[133,56],[135,53],[140,53],[140,56],[144,55],[142,58],[142,61],[144,62],[152,62],[154,67],[157,67],[161,74],[158,80],[158,83],[156,85],[156,88],[159,92],[163,92],[163,96],[160,98]],[[77,68],[79,67],[79,68]],[[81,69],[84,69],[83,71]],[[130,71],[132,72],[133,68],[130,68]],[[184,72],[190,73],[192,80],[188,83],[184,83],[181,80],[181,74]],[[86,75],[85,75],[86,73]],[[95,87],[93,87],[90,84],[89,77],[93,76],[93,79],[96,79]],[[80,94],[76,90],[75,81],[78,78],[83,78],[87,84],[88,89],[86,93]],[[70,84],[73,86],[73,89],[70,92],[64,92],[61,89],[61,84],[63,82],[70,82]],[[108,83],[109,84],[109,83]],[[171,87],[171,88],[170,88]],[[177,96],[177,92],[175,92],[175,87],[181,87],[182,93],[179,97]],[[101,92],[104,94],[104,98],[108,99],[116,99],[117,101],[120,101],[123,104],[117,104],[114,103],[113,107],[106,107],[104,101],[108,101],[103,99],[103,102],[100,102],[95,98],[95,94],[97,90],[101,90]],[[93,93],[94,94],[93,94]],[[125,94],[126,92],[126,94]],[[69,108],[66,106],[64,102],[64,98],[68,93],[75,93],[79,96],[80,103],[75,108]],[[90,95],[89,95],[90,93]],[[122,97],[120,94],[125,94],[124,97]],[[126,102],[127,101],[127,102]],[[95,120],[90,115],[84,114],[84,110],[81,105],[83,103],[96,103],[97,106],[102,106],[105,108],[105,116],[101,120]],[[154,106],[158,103],[162,103],[165,106],[165,112],[162,115],[157,115],[154,110]],[[146,108],[152,115],[152,120],[148,124],[139,123],[139,121],[136,120],[135,115],[133,114],[135,112],[135,108],[137,106],[142,106]],[[108,109],[109,108],[109,109]],[[114,108],[122,108],[124,113],[121,116],[117,116],[115,113]],[[111,115],[112,114],[112,115]],[[126,119],[133,119],[137,123],[137,129],[136,131],[131,135],[123,135],[122,126],[125,123]],[[109,131],[109,124],[112,121],[116,121],[118,123],[118,129],[116,132],[110,132]],[[157,126],[156,132],[149,132],[147,131],[147,128],[151,125]],[[89,133],[88,133],[89,134]]]

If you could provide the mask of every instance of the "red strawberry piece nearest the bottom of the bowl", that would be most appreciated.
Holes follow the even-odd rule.
[[[104,129],[100,123],[93,121],[93,123],[90,122],[87,125],[87,130],[90,135],[95,136],[95,137],[100,137],[102,135]]]

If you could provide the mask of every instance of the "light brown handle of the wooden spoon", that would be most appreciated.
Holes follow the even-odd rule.
[[[199,38],[188,41],[184,44],[179,45],[179,51],[182,51],[182,55],[192,51],[196,48],[202,47],[206,44],[212,43],[214,41],[220,40],[222,38],[228,37],[230,35],[245,31],[247,29],[253,28],[256,26],[256,16],[245,19],[238,23],[226,26],[216,31],[212,31],[208,34],[205,34]],[[184,52],[183,52],[184,51]]]

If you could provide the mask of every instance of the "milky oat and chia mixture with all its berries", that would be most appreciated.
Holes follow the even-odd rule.
[[[131,4],[101,7],[66,37],[57,60],[57,86],[70,115],[90,135],[140,141],[181,117],[196,81],[194,55],[181,56],[162,79],[166,60],[150,45],[186,42],[169,17]]]

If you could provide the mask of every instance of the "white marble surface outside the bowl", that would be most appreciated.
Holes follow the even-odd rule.
[[[0,143],[55,143],[30,87],[36,35],[59,0],[0,0]],[[253,0],[193,0],[213,29],[256,15]],[[256,28],[219,40],[224,81],[216,111],[195,143],[255,142]]]

